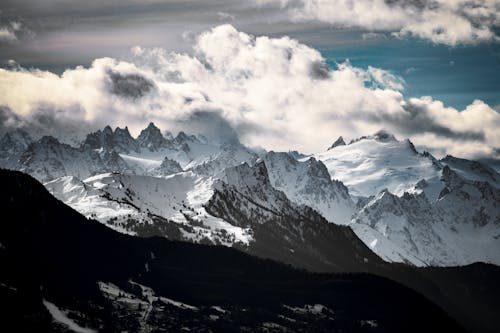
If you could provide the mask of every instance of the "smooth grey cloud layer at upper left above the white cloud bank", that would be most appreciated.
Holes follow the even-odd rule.
[[[0,66],[14,59],[58,73],[103,56],[123,58],[136,45],[191,52],[186,36],[225,22],[251,34],[288,35],[312,45],[360,40],[357,32],[334,31],[325,23],[291,22],[279,4],[259,6],[253,0],[5,0],[0,10],[6,22],[22,18],[36,34],[0,43]]]

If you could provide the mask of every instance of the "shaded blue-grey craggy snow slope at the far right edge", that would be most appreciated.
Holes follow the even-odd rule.
[[[500,191],[445,166],[435,202],[423,190],[372,197],[351,228],[388,261],[414,265],[500,265]]]

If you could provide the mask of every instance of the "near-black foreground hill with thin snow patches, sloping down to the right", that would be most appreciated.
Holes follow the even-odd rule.
[[[0,170],[2,332],[460,332],[370,274],[313,274],[217,246],[136,238]]]

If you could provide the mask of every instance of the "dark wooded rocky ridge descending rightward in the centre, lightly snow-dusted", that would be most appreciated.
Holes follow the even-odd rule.
[[[253,240],[242,249],[257,256],[320,271],[366,271],[380,263],[351,229],[329,223],[274,188],[263,161],[227,168],[205,207],[232,225],[250,228]]]

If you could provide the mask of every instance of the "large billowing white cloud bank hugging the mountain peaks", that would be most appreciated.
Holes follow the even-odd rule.
[[[193,46],[192,55],[135,47],[128,60],[99,58],[61,75],[0,69],[0,105],[11,112],[4,118],[59,135],[67,132],[59,127],[78,123],[128,125],[138,134],[154,121],[174,132],[304,152],[385,128],[439,153],[498,155],[500,115],[481,101],[456,110],[430,97],[406,100],[404,81],[390,72],[349,62],[329,68],[294,39],[231,25],[200,34]]]

